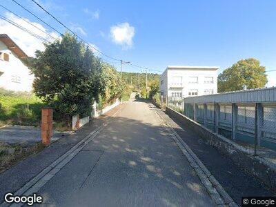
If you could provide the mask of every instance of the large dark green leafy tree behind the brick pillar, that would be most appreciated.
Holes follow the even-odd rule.
[[[45,46],[28,62],[35,77],[34,92],[55,107],[58,119],[70,124],[72,115],[88,115],[92,99],[104,90],[101,63],[72,34]]]

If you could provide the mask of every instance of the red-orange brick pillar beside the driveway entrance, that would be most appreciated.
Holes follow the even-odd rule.
[[[41,139],[42,144],[48,146],[52,137],[52,112],[50,107],[41,109]]]

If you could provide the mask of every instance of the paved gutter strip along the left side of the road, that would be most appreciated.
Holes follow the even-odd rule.
[[[46,167],[42,170],[37,176],[32,178],[28,183],[26,183],[22,188],[17,190],[14,195],[32,195],[33,193],[37,193],[42,186],[44,186],[52,177],[54,177],[63,166],[68,164],[68,162],[73,159],[92,139],[94,139],[99,132],[101,132],[108,124],[110,124],[111,117],[115,117],[117,113],[121,111],[121,108],[117,110],[114,114],[112,114],[106,122],[98,126],[95,130],[93,130],[89,135],[81,139],[75,146],[70,148],[66,153],[64,153],[61,157],[56,159],[50,166]],[[0,205],[2,206],[23,206],[23,204],[7,204],[5,201]]]

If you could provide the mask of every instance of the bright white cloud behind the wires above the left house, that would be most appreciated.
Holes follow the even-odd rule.
[[[34,32],[35,34],[39,34],[39,36],[43,37],[44,39],[47,39],[48,41],[54,41],[51,37],[49,37],[44,32],[47,32],[52,37],[59,38],[59,35],[55,32],[49,32],[44,28],[41,24],[36,22],[31,22],[28,19],[25,19],[26,21],[29,21],[34,26],[37,26],[40,30],[37,28],[34,28],[30,24],[28,24],[26,21],[23,21],[23,19],[20,19],[16,17],[14,14],[6,12],[5,17],[7,19],[10,19],[11,21],[14,21],[15,23],[19,24],[20,26]],[[44,32],[41,32],[44,31]],[[0,19],[0,33],[1,34],[8,34],[8,36],[15,42],[17,45],[24,51],[26,54],[30,57],[34,57],[34,52],[36,50],[45,50],[45,47],[43,46],[43,42],[35,37],[33,37],[28,32],[25,32],[12,24],[4,21],[3,19]]]

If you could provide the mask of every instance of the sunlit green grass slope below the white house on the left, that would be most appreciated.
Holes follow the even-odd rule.
[[[41,99],[32,93],[0,89],[0,126],[39,126],[42,106]]]

